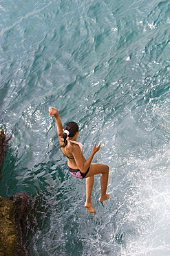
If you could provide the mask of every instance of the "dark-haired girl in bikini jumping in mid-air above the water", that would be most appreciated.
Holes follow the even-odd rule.
[[[94,175],[100,174],[101,195],[98,199],[103,202],[109,199],[107,191],[107,182],[109,177],[109,166],[101,163],[92,163],[92,159],[100,149],[100,143],[96,143],[92,148],[89,158],[86,160],[83,156],[83,145],[77,141],[79,128],[76,122],[68,122],[63,129],[59,111],[55,107],[49,107],[50,116],[54,116],[56,130],[59,138],[59,144],[63,154],[67,157],[67,165],[70,174],[74,177],[85,179],[86,184],[86,201],[85,208],[88,212],[96,213],[92,205],[92,188],[94,185]]]

